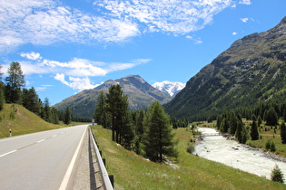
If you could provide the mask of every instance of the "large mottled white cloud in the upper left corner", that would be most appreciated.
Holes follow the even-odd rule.
[[[51,0],[1,0],[0,52],[25,43],[123,42],[140,32],[137,24],[61,6]]]

